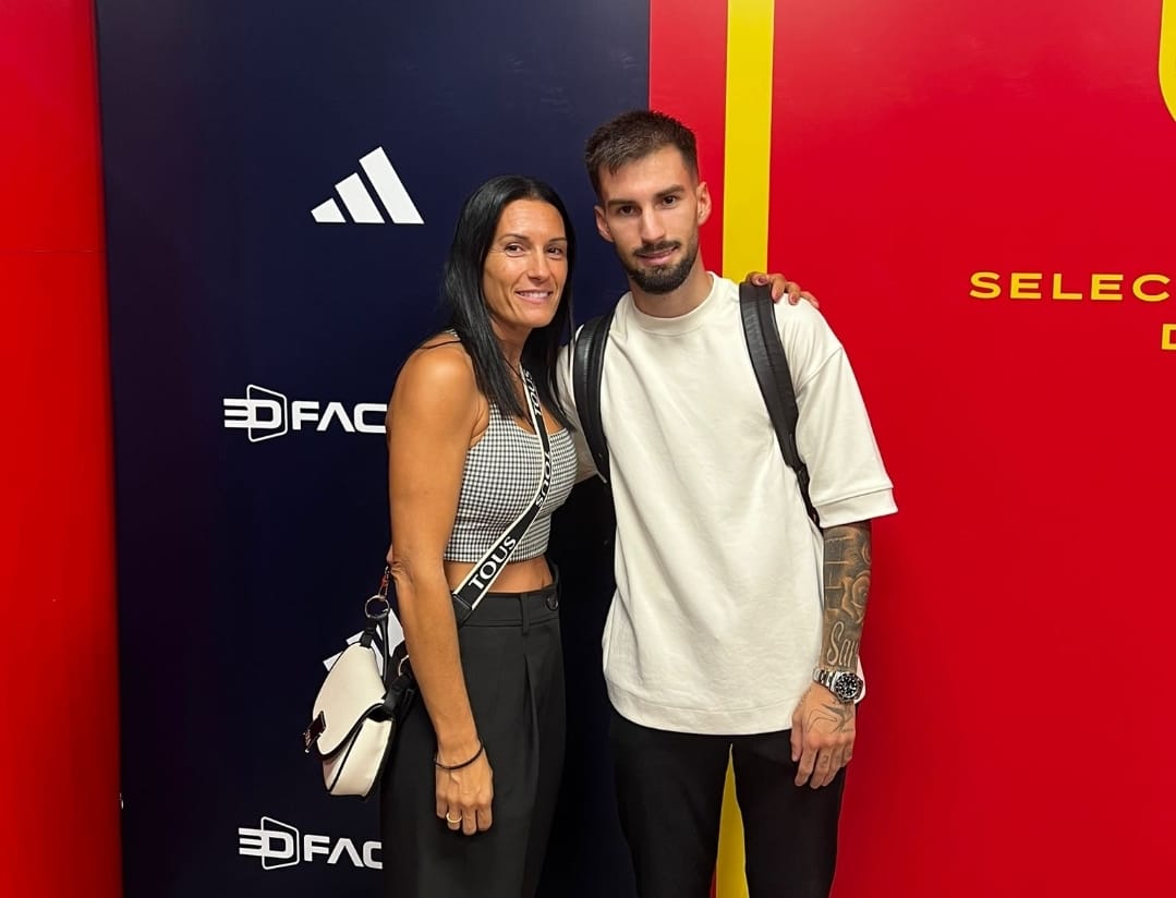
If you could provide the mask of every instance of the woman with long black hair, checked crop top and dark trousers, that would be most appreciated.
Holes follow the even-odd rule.
[[[550,512],[576,456],[556,398],[575,235],[546,183],[495,177],[466,201],[445,268],[449,329],[406,362],[388,407],[389,558],[423,709],[381,790],[383,866],[397,898],[534,894],[563,759],[563,672]],[[546,500],[459,630],[452,590],[535,497]]]

